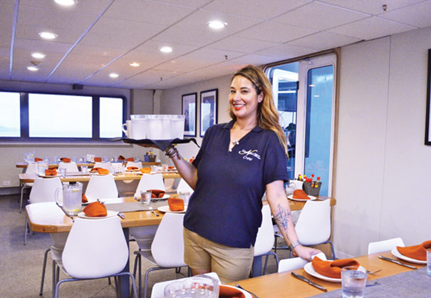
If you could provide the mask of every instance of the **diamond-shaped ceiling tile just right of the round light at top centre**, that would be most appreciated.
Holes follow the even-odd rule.
[[[249,29],[246,29],[236,35],[260,41],[284,43],[286,41],[291,41],[296,38],[313,34],[315,32],[317,31],[298,26],[291,26],[274,22],[264,22]]]

